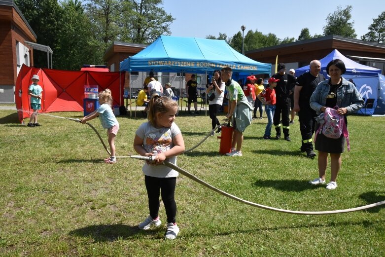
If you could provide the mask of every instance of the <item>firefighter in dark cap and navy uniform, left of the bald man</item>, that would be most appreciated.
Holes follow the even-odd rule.
[[[292,74],[286,73],[286,66],[280,63],[277,68],[278,73],[275,73],[272,77],[279,79],[276,89],[276,111],[274,113],[273,123],[276,128],[276,139],[280,139],[280,127],[282,126],[284,140],[290,141],[290,94],[294,92],[294,86],[296,79]],[[282,114],[282,116],[281,116]],[[282,118],[281,118],[282,117]],[[282,124],[280,121],[282,120]]]

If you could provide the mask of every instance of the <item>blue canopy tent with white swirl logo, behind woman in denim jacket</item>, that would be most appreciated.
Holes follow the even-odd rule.
[[[364,108],[357,111],[357,113],[364,115],[385,114],[385,102],[383,97],[383,93],[385,93],[385,82],[381,70],[356,63],[335,49],[319,60],[321,62],[321,73],[326,78],[328,77],[326,66],[330,61],[335,59],[340,59],[344,62],[346,72],[343,74],[343,77],[352,79],[362,98],[365,99]],[[310,66],[307,65],[296,69],[295,74],[299,76],[309,71]]]

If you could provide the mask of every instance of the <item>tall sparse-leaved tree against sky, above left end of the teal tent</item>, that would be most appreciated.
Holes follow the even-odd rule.
[[[170,25],[175,18],[159,7],[162,0],[127,0],[121,13],[121,40],[133,43],[152,43],[160,35],[171,35]]]

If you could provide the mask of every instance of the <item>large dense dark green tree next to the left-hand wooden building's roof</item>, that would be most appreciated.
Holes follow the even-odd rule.
[[[78,71],[82,64],[103,64],[103,45],[93,38],[91,23],[78,0],[18,0],[37,36],[37,43],[53,50],[52,66]],[[34,51],[34,66],[47,67],[47,54]]]

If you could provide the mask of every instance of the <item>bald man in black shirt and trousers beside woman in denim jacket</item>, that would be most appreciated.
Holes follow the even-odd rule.
[[[303,73],[297,78],[294,90],[294,110],[298,111],[299,126],[302,136],[301,151],[306,151],[306,157],[314,158],[313,134],[315,131],[315,110],[310,108],[310,97],[319,82],[325,80],[320,74],[321,63],[318,60],[310,62],[310,72]]]

